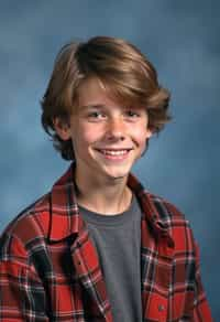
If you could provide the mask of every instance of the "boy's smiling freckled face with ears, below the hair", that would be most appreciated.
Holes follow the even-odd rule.
[[[56,129],[63,140],[72,138],[77,172],[103,180],[125,179],[152,135],[145,109],[117,104],[97,79],[80,86],[69,127]]]

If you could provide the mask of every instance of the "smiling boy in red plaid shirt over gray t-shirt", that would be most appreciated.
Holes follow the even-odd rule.
[[[1,237],[1,321],[212,321],[188,222],[130,173],[168,103],[125,41],[62,49],[42,124],[73,163]]]

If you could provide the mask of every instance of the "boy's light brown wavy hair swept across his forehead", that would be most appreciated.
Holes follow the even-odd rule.
[[[43,128],[65,160],[75,160],[72,140],[64,141],[58,137],[54,119],[68,122],[68,117],[78,107],[78,88],[90,77],[99,79],[123,106],[144,106],[153,132],[158,133],[170,120],[169,92],[158,84],[154,66],[139,49],[122,39],[109,36],[68,43],[55,60],[41,101]]]

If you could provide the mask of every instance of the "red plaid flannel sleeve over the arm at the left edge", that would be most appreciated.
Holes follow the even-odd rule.
[[[11,234],[0,238],[0,320],[48,321],[45,290],[31,266],[23,242]]]

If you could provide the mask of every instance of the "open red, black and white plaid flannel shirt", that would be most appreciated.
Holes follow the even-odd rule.
[[[0,321],[112,321],[98,255],[77,207],[74,169],[1,236]],[[188,222],[134,175],[128,184],[144,213],[143,321],[211,322]]]

